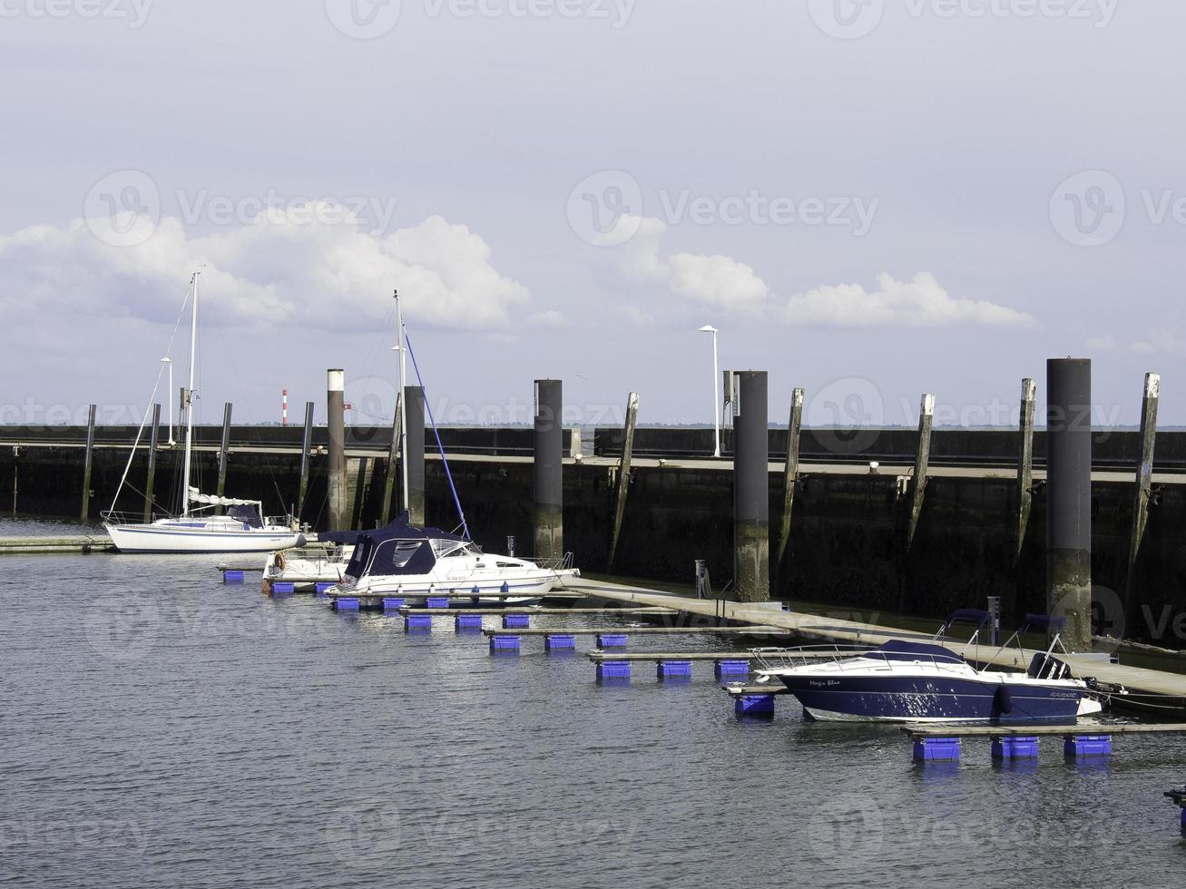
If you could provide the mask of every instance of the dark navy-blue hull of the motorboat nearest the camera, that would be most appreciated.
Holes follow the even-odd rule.
[[[944,676],[779,678],[809,716],[825,722],[1070,723],[1083,712],[1083,693],[1065,685]]]

